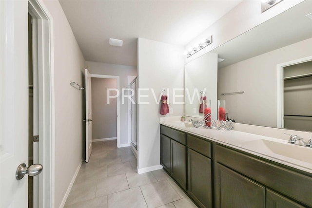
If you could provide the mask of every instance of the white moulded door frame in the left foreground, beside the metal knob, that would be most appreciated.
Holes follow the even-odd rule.
[[[55,94],[53,18],[42,0],[28,0],[28,10],[37,19],[39,85],[39,207],[55,203]],[[33,16],[33,18],[34,18]]]

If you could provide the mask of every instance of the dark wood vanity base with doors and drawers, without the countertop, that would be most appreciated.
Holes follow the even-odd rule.
[[[163,125],[160,132],[161,165],[198,207],[312,208],[311,173]]]

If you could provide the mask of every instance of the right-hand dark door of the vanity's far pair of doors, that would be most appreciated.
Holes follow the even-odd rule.
[[[171,140],[171,156],[172,176],[183,189],[186,189],[186,147]]]

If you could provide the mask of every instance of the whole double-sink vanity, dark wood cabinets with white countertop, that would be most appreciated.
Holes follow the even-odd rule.
[[[312,207],[312,148],[165,120],[160,144],[164,170],[198,207]]]

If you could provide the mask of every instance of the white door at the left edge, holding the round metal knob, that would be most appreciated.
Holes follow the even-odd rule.
[[[0,207],[28,205],[28,2],[0,1]]]

